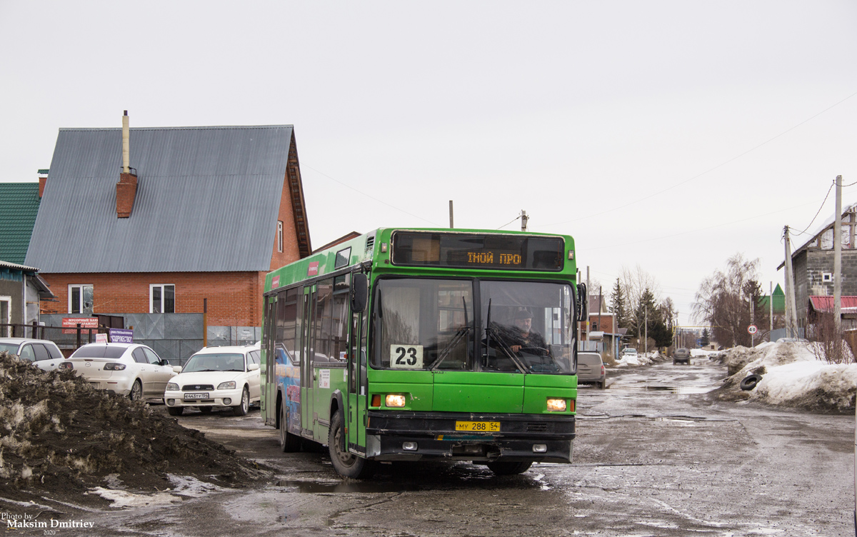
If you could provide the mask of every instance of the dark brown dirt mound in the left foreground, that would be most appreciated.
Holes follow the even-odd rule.
[[[153,412],[95,390],[71,371],[45,372],[0,352],[0,490],[3,498],[69,496],[105,485],[169,487],[167,474],[246,486],[267,472]]]

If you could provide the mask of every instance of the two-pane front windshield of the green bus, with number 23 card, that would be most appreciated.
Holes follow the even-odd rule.
[[[573,302],[567,283],[384,278],[373,365],[572,374]]]

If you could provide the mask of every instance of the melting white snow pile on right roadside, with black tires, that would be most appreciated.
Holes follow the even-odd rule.
[[[756,349],[729,349],[723,358],[729,377],[718,390],[720,397],[812,410],[853,410],[857,364],[831,365],[819,361],[810,345],[764,343]],[[741,380],[751,374],[762,379],[752,390],[741,391]]]

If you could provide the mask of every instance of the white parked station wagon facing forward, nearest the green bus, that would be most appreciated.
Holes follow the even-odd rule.
[[[255,345],[201,349],[166,385],[167,412],[182,415],[185,408],[196,407],[207,414],[215,407],[231,407],[233,414],[246,415],[261,400],[259,363]]]

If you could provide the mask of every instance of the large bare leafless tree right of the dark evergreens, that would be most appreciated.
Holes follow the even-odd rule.
[[[762,329],[756,336],[758,341],[767,333],[768,313],[758,308],[761,286],[758,284],[758,259],[745,260],[742,254],[734,254],[726,261],[726,270],[717,270],[699,285],[693,316],[711,325],[713,339],[722,345],[750,346],[751,337],[747,326],[754,321]],[[751,304],[757,305],[751,308]]]

